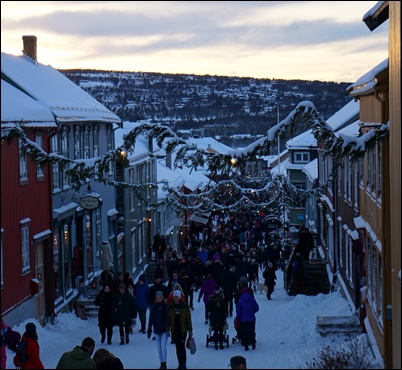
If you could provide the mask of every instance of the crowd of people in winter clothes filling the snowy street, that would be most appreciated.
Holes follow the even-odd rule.
[[[193,302],[194,299],[198,302],[202,299],[205,324],[210,329],[215,350],[225,348],[229,317],[234,317],[235,339],[245,351],[249,351],[250,347],[255,349],[259,305],[254,293],[262,284],[266,287],[267,299],[271,300],[276,271],[281,266],[280,248],[272,240],[272,235],[264,230],[263,218],[263,213],[253,216],[241,212],[235,216],[213,214],[210,222],[201,229],[193,225],[179,251],[170,250],[164,238],[157,234],[153,251],[158,266],[152,282],[147,281],[145,274],[140,275],[137,282],[133,281],[129,272],[119,272],[114,276],[110,245],[103,243],[102,289],[94,302],[99,307],[101,343],[112,344],[113,328],[118,326],[120,345],[129,344],[138,319],[139,332],[155,340],[159,368],[167,368],[167,343],[170,338],[170,343],[176,348],[178,368],[186,369],[186,348],[193,336]],[[303,259],[308,259],[313,245],[311,233],[301,228],[297,250],[292,253],[292,261],[289,261],[286,271],[292,274],[296,291],[303,284]],[[293,270],[292,266],[296,265]],[[262,276],[261,282],[259,276]],[[2,321],[2,368],[5,368],[3,338],[7,330]],[[33,323],[27,324],[22,339],[28,342],[31,364],[21,368],[43,368]],[[94,339],[85,338],[81,345],[60,357],[57,368],[124,368],[120,359],[110,351],[99,348],[94,353],[94,349]],[[230,365],[232,368],[246,368],[245,358],[234,356]]]

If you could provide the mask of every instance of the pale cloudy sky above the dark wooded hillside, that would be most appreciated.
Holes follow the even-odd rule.
[[[1,51],[93,68],[354,82],[387,58],[377,1],[1,1]]]

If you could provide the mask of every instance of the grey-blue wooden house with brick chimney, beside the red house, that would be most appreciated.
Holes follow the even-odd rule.
[[[1,74],[2,80],[40,102],[54,117],[57,133],[51,137],[49,151],[71,160],[92,161],[114,150],[113,130],[121,124],[119,117],[62,73],[39,63],[36,41],[36,36],[23,36],[22,56],[1,53]],[[98,251],[102,241],[112,246],[115,269],[119,268],[117,211],[113,186],[88,179],[75,189],[56,164],[51,175],[52,242],[48,253],[52,256],[44,258],[53,263],[48,288],[57,313],[75,303],[79,285],[89,284],[100,273]],[[114,168],[110,168],[109,176],[114,179]],[[34,236],[27,236],[29,243]],[[29,275],[34,278],[34,271]],[[16,301],[14,306],[20,303]]]

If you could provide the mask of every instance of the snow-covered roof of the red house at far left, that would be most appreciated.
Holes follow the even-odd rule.
[[[29,126],[56,126],[49,108],[21,90],[1,80],[1,123],[24,123]]]

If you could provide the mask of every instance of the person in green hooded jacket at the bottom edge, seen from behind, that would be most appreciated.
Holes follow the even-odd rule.
[[[96,362],[91,358],[94,349],[95,341],[86,337],[80,346],[61,355],[56,369],[96,369]]]

